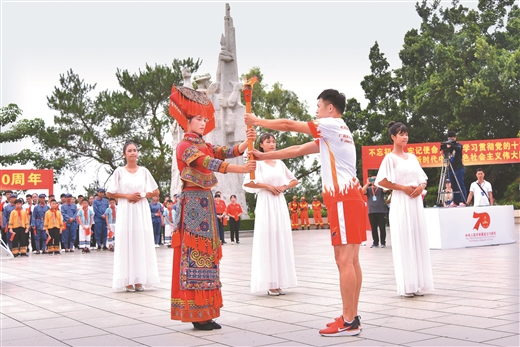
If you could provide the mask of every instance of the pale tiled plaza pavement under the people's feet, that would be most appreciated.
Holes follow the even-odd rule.
[[[170,320],[166,247],[157,249],[160,285],[142,293],[112,290],[108,251],[3,260],[0,345],[518,346],[516,228],[516,244],[432,250],[436,290],[424,297],[397,295],[391,245],[362,247],[363,332],[356,337],[318,333],[341,313],[328,230],[294,232],[299,286],[278,297],[250,293],[250,233],[239,245],[226,244],[217,320],[223,328],[209,332]]]

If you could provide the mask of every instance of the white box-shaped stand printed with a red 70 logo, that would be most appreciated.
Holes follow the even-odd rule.
[[[425,208],[430,249],[514,243],[513,206]]]

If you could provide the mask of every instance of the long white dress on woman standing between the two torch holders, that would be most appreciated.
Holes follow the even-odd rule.
[[[282,186],[294,179],[292,172],[281,160],[276,160],[274,167],[258,161],[253,182]],[[244,184],[249,182],[249,174],[246,174]],[[294,268],[291,220],[284,195],[273,195],[267,189],[244,189],[249,193],[257,193],[251,293],[296,287],[298,281]]]

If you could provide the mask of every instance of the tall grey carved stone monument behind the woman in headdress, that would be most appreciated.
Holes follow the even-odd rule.
[[[202,75],[195,79],[199,91],[204,91],[210,98],[215,108],[216,128],[204,138],[206,142],[217,145],[233,146],[246,139],[246,125],[243,116],[246,108],[241,103],[241,90],[243,82],[239,80],[235,41],[235,27],[233,18],[230,16],[230,6],[226,4],[226,14],[224,16],[224,34],[220,38],[220,53],[218,57],[216,81],[209,87],[207,86],[210,76]],[[189,72],[189,71],[188,71]],[[184,86],[191,87],[191,74],[184,73]],[[254,100],[254,99],[253,99]],[[175,160],[175,148],[182,140],[182,128],[175,123],[172,128],[174,156],[172,161],[172,194],[181,191],[180,173]],[[238,157],[228,159],[228,162],[237,165],[244,165],[244,158]],[[231,202],[230,196],[236,195],[237,202],[242,205],[242,209],[247,211],[246,198],[242,183],[244,181],[241,174],[219,174],[217,173],[218,185],[213,192],[220,191],[226,204]],[[242,216],[248,219],[247,214]]]

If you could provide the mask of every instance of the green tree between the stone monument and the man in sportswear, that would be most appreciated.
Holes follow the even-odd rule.
[[[292,119],[297,121],[310,121],[312,117],[307,112],[307,105],[301,102],[298,96],[287,89],[282,84],[276,82],[272,87],[263,83],[263,74],[259,67],[253,67],[243,78],[249,79],[252,76],[258,77],[258,82],[253,88],[252,111],[259,117],[266,119]],[[243,101],[245,104],[245,102]],[[272,133],[276,138],[276,148],[282,149],[293,145],[299,145],[312,140],[307,134],[297,134],[292,132],[280,132],[267,129],[257,129],[258,137],[264,131]],[[257,145],[258,148],[258,145]],[[292,200],[293,195],[298,197],[306,196],[307,200],[313,195],[321,195],[321,182],[319,181],[320,166],[317,160],[313,160],[311,165],[306,165],[308,158],[298,157],[284,160],[300,184],[287,191],[285,198],[287,202]],[[318,184],[316,182],[318,181]],[[247,206],[249,211],[254,211],[255,199],[253,194],[246,193]]]

